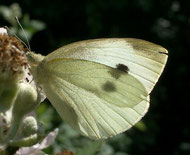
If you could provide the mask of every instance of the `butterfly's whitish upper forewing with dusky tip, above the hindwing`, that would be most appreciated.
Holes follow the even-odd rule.
[[[63,46],[49,54],[46,61],[73,58],[112,68],[123,65],[150,93],[165,67],[167,53],[165,48],[140,39],[94,39]]]

